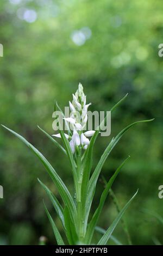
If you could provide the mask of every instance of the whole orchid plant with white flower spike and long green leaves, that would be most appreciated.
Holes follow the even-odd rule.
[[[116,105],[112,107],[110,111],[114,111],[114,109],[123,102],[126,96],[124,96],[123,99],[116,103]],[[54,185],[58,189],[58,192],[62,199],[62,203],[59,202],[53,192],[49,190],[49,188],[38,179],[41,186],[47,192],[49,199],[51,200],[54,209],[61,221],[62,228],[66,235],[66,241],[64,241],[57,228],[57,225],[49,214],[49,211],[44,203],[45,210],[49,221],[51,222],[55,239],[57,240],[58,245],[91,245],[93,243],[93,234],[95,233],[95,230],[97,230],[99,216],[101,215],[105,200],[111,189],[111,185],[114,182],[118,173],[120,172],[121,168],[123,167],[124,163],[126,163],[126,161],[129,159],[129,157],[127,157],[127,159],[121,163],[121,165],[115,170],[115,173],[106,182],[104,191],[102,192],[101,198],[99,199],[98,207],[92,215],[90,214],[91,205],[103,164],[108,158],[112,149],[117,144],[117,142],[121,139],[124,133],[130,129],[130,127],[141,122],[152,121],[153,119],[136,121],[135,123],[132,123],[124,128],[120,133],[118,133],[115,138],[112,138],[110,143],[104,150],[104,153],[102,154],[96,168],[92,171],[93,147],[95,145],[97,136],[103,129],[107,116],[104,118],[101,124],[96,127],[96,130],[85,131],[87,123],[87,109],[91,105],[91,103],[86,104],[86,96],[83,92],[82,84],[80,83],[76,94],[73,95],[72,103],[69,102],[69,104],[71,109],[71,116],[65,118],[63,112],[62,115],[66,125],[69,127],[69,125],[71,124],[72,129],[68,129],[68,134],[60,129],[57,135],[53,135],[53,137],[61,138],[62,145],[52,136],[50,136],[46,131],[42,130],[40,127],[39,129],[49,139],[51,139],[51,141],[70,160],[72,177],[74,182],[74,191],[72,193],[68,190],[64,181],[60,178],[58,173],[52,167],[51,163],[48,162],[48,160],[45,158],[45,156],[42,155],[42,153],[40,153],[39,150],[37,150],[21,135],[18,135],[18,133],[10,130],[4,125],[3,127],[13,133],[18,138],[20,138],[21,141],[23,141],[30,148],[30,150],[33,151],[33,153],[39,158],[39,160],[47,169],[47,172],[51,176]],[[55,104],[55,108],[58,108],[60,110],[58,103]],[[89,137],[91,139],[89,139]],[[120,222],[124,212],[127,210],[128,206],[133,201],[136,194],[137,192],[134,194],[133,197],[131,197],[131,199],[123,207],[123,209],[118,212],[118,215],[115,218],[114,222],[112,222],[110,227],[108,227],[108,229],[104,231],[101,239],[97,242],[97,245],[106,245],[106,243],[108,243],[108,240],[112,238],[112,232],[116,228],[118,222]]]

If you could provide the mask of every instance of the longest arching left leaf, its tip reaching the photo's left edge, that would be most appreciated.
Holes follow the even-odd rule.
[[[51,176],[52,180],[54,181],[54,184],[57,186],[58,191],[60,193],[60,196],[62,200],[64,201],[64,204],[68,206],[68,209],[70,210],[72,216],[76,218],[76,206],[73,202],[73,199],[71,197],[70,192],[68,191],[66,185],[61,180],[60,176],[55,172],[54,168],[51,166],[51,164],[47,161],[45,156],[43,156],[39,150],[37,150],[32,144],[30,144],[25,138],[23,138],[18,133],[10,130],[8,127],[5,127],[2,125],[5,129],[13,133],[16,137],[20,138],[21,141],[23,141],[32,151],[33,153],[40,159],[40,161],[43,163],[43,166],[47,169],[47,172]]]

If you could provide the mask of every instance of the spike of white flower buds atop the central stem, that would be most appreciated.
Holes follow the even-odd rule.
[[[74,154],[78,148],[86,150],[90,143],[87,137],[91,137],[95,133],[95,131],[84,132],[87,123],[87,109],[91,103],[86,104],[86,95],[83,92],[83,86],[81,83],[79,83],[77,92],[73,94],[73,101],[69,101],[69,105],[71,110],[70,117],[64,119],[70,123],[73,134],[72,136],[69,136],[65,133],[65,136],[70,142],[70,147]],[[61,137],[60,133],[52,136],[58,138]]]

